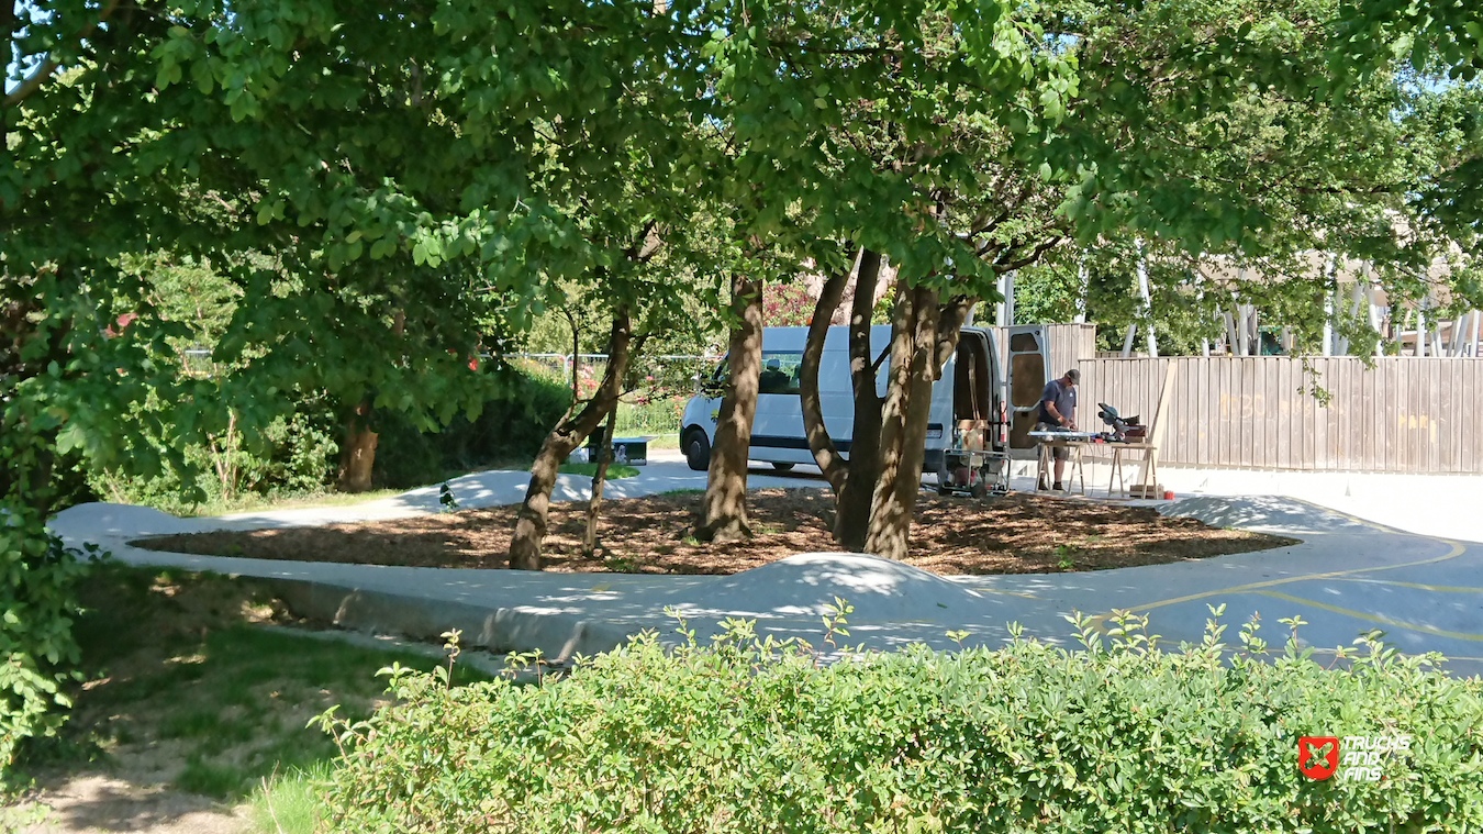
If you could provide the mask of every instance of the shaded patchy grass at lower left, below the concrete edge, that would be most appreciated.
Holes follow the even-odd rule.
[[[76,634],[85,681],[73,693],[73,717],[59,738],[30,745],[19,764],[37,781],[33,801],[64,821],[70,797],[87,792],[79,785],[98,781],[108,798],[104,807],[89,803],[95,824],[123,825],[169,800],[196,807],[205,816],[193,825],[212,831],[211,815],[240,822],[252,813],[233,806],[248,801],[262,812],[277,794],[303,816],[305,775],[323,773],[337,752],[308,720],[335,705],[366,717],[386,697],[378,669],[439,662],[307,637],[270,589],[251,580],[107,564],[82,595],[87,610]],[[455,674],[482,677],[472,668]],[[265,779],[274,785],[268,797]]]

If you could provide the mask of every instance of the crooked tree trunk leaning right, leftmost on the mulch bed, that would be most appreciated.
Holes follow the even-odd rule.
[[[550,512],[552,490],[556,473],[567,456],[598,427],[618,404],[623,392],[623,374],[629,365],[629,347],[633,341],[633,322],[627,306],[620,306],[612,315],[612,331],[608,337],[608,370],[602,375],[598,393],[578,413],[572,402],[561,423],[546,435],[541,451],[531,464],[531,484],[525,488],[525,502],[515,518],[515,536],[510,539],[510,567],[515,570],[541,568],[541,542],[546,539],[546,519]]]

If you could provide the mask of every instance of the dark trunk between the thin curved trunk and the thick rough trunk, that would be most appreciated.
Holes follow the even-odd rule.
[[[850,381],[854,386],[854,426],[850,432],[850,466],[839,490],[833,536],[845,551],[865,549],[871,525],[871,497],[881,470],[881,396],[875,392],[875,350],[871,316],[881,279],[881,254],[865,249],[850,310]]]

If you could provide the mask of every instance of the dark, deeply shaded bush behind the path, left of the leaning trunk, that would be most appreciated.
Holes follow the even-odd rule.
[[[506,375],[500,386],[504,393],[486,402],[476,420],[457,416],[440,432],[420,432],[397,414],[378,413],[375,484],[406,490],[436,484],[454,472],[535,457],[571,405],[571,389],[515,370],[497,372]]]

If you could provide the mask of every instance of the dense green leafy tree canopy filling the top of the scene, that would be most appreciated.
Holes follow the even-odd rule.
[[[1007,270],[1321,246],[1404,289],[1483,232],[1480,25],[1464,0],[4,3],[6,558],[49,564],[79,456],[179,466],[308,393],[436,427],[497,384],[475,353],[575,297],[641,347],[727,280],[884,255],[900,453],[908,387]],[[141,263],[219,276],[230,316]],[[230,375],[179,374],[200,328]]]

